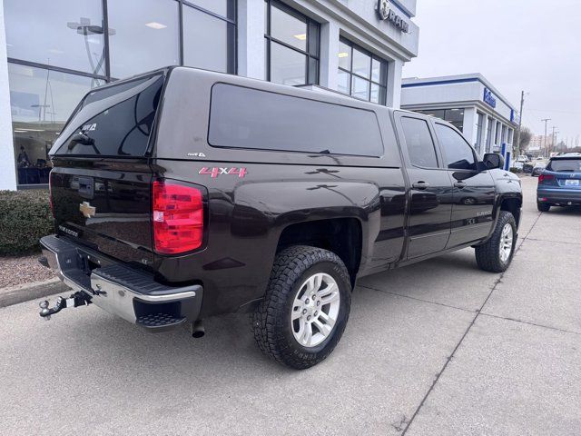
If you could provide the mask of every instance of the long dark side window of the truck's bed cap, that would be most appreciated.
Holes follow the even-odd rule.
[[[383,154],[372,111],[230,84],[212,88],[208,142],[256,150]]]

